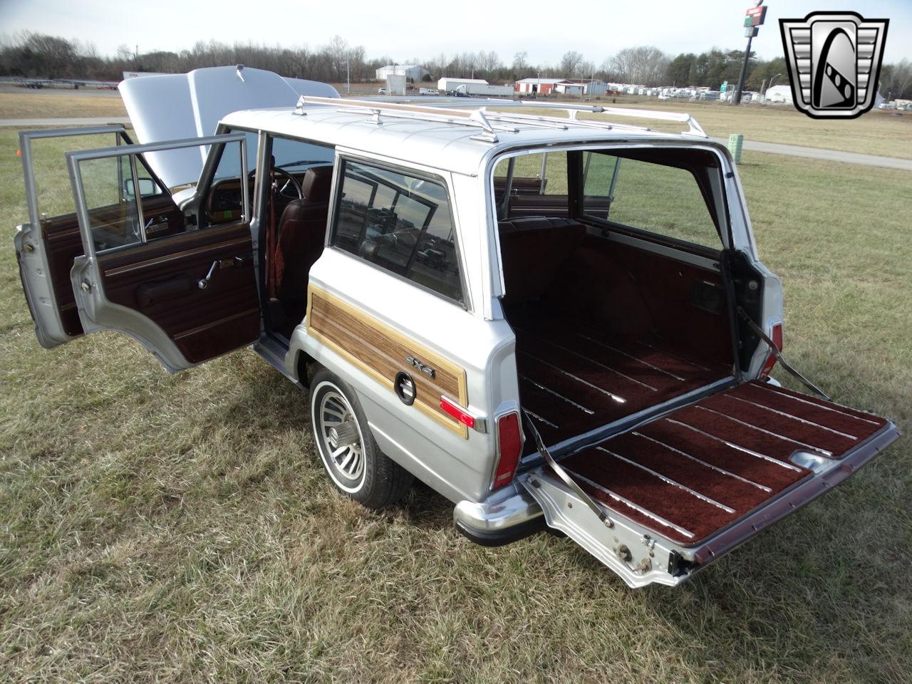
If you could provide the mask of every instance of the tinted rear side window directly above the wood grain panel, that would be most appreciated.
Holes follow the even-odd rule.
[[[356,161],[343,164],[331,244],[464,302],[443,183]]]

